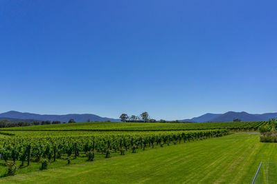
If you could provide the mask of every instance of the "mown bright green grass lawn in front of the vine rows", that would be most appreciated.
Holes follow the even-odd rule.
[[[1,178],[0,183],[251,183],[260,161],[277,161],[277,144],[231,134],[111,159]]]

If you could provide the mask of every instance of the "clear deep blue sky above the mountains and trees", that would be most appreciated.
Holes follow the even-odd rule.
[[[0,112],[277,112],[277,1],[0,1]]]

